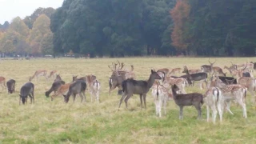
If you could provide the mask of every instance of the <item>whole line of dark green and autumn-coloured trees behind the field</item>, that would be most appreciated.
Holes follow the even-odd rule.
[[[10,54],[254,56],[253,0],[65,0],[0,25]]]

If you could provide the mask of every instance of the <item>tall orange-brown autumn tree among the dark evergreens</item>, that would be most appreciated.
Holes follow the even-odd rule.
[[[172,45],[181,50],[186,50],[186,22],[189,20],[190,5],[184,0],[178,0],[170,15],[174,21],[174,29],[171,34]]]

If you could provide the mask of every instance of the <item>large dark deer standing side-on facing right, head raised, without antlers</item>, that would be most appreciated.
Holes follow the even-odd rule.
[[[150,78],[147,81],[136,81],[134,79],[126,79],[122,82],[122,98],[120,99],[119,108],[122,104],[123,99],[125,98],[126,108],[128,106],[128,99],[133,94],[139,94],[142,106],[142,98],[144,101],[146,109],[146,93],[150,90],[150,87],[153,86],[155,79],[161,79],[157,72],[151,70]]]

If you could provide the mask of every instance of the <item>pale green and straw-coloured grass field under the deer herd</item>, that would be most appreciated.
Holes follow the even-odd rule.
[[[234,103],[231,110],[234,115],[223,114],[223,122],[206,122],[206,106],[202,107],[202,120],[197,120],[194,107],[184,108],[184,119],[178,119],[178,106],[169,101],[167,114],[162,118],[155,115],[151,90],[147,94],[147,109],[140,108],[138,95],[128,101],[128,109],[122,103],[118,110],[120,96],[117,90],[108,94],[110,69],[107,65],[116,58],[105,59],[38,59],[23,61],[1,61],[1,76],[6,80],[16,80],[16,93],[7,94],[0,88],[0,143],[255,143],[256,113],[247,94],[246,106],[248,118],[242,118],[242,108]],[[184,65],[199,68],[209,64],[208,58],[119,58],[127,68],[134,65],[137,79],[148,79],[150,69],[174,68]],[[256,58],[216,58],[214,66],[230,66],[230,61],[242,63],[256,61]],[[214,61],[214,58],[211,59]],[[53,102],[46,98],[45,91],[52,81],[40,78],[35,85],[35,103],[18,105],[18,93],[35,70],[58,70],[65,82],[72,75],[95,74],[102,84],[100,103],[90,102],[86,91],[86,102],[63,98]],[[226,70],[225,70],[226,71]],[[187,92],[201,92],[198,87],[186,88]]]

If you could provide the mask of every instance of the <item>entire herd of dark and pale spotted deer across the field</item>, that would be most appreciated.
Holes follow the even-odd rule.
[[[150,78],[147,81],[135,80],[134,66],[130,66],[130,70],[127,70],[124,68],[125,65],[123,62],[112,62],[112,66],[108,66],[112,71],[109,79],[109,93],[111,95],[111,91],[118,87],[118,94],[122,94],[119,108],[123,100],[127,108],[127,102],[133,94],[140,96],[141,106],[143,106],[144,102],[146,108],[146,94],[151,88],[156,114],[159,117],[162,117],[162,106],[166,114],[166,103],[170,99],[174,99],[174,102],[180,107],[180,119],[183,118],[183,106],[194,106],[198,110],[198,118],[201,118],[201,107],[203,103],[206,103],[207,121],[209,121],[211,109],[212,121],[214,123],[217,114],[219,114],[220,121],[222,121],[224,109],[229,111],[230,114],[233,114],[230,110],[230,102],[235,100],[242,106],[243,117],[247,118],[246,91],[248,90],[250,94],[255,97],[256,80],[253,72],[256,69],[256,62],[246,62],[242,65],[234,65],[231,62],[232,65],[230,67],[224,66],[224,69],[228,70],[233,77],[226,77],[226,73],[223,72],[222,68],[214,66],[216,60],[215,62],[210,62],[209,59],[208,62],[210,65],[202,65],[200,70],[189,70],[187,66],[184,66],[183,70],[181,68],[163,68],[157,71],[151,70]],[[179,77],[174,76],[174,74],[181,72],[185,73],[185,75]],[[208,74],[210,75],[209,81],[207,81]],[[51,97],[51,100],[63,95],[64,102],[69,102],[71,95],[75,100],[78,94],[81,97],[81,102],[83,102],[83,99],[85,99],[85,102],[85,91],[88,86],[91,102],[93,99],[99,102],[101,84],[98,82],[96,76],[92,74],[82,78],[73,76],[73,82],[66,83],[62,81],[62,78],[57,74],[56,70],[51,71],[49,76],[47,76],[46,70],[37,70],[34,75],[29,78],[29,82],[26,82],[26,84],[22,86],[19,94],[19,103],[22,102],[22,104],[25,104],[28,97],[30,97],[31,103],[32,101],[34,102],[34,84],[31,81],[33,78],[39,80],[41,76],[46,79],[55,78],[50,90],[46,91],[46,97]],[[187,86],[194,86],[194,82],[196,81],[199,82],[200,89],[206,89],[206,93],[186,94],[185,88]],[[10,79],[6,82],[6,78],[0,77],[0,84],[2,88],[6,88],[7,86],[8,93],[12,94],[15,92],[14,79]],[[50,96],[52,92],[54,92],[54,94]]]

